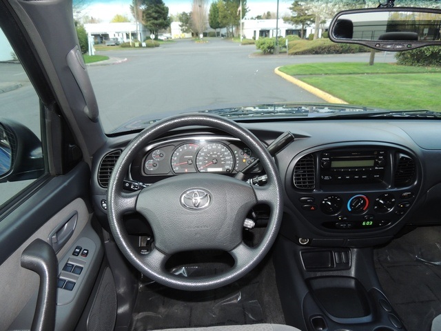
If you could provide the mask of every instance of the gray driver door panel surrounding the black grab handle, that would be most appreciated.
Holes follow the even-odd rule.
[[[39,276],[21,267],[21,254],[35,239],[54,245],[54,231],[59,231],[72,218],[76,221],[72,231],[69,230],[69,238],[58,247],[57,276],[74,285],[72,289],[58,289],[56,330],[72,330],[79,321],[103,261],[103,245],[92,228],[92,213],[86,202],[89,178],[88,167],[80,163],[70,173],[46,181],[0,222],[1,257],[6,257],[0,265],[0,330],[30,329]],[[33,228],[37,229],[30,233]],[[81,246],[79,256],[72,254],[77,246]],[[81,256],[84,250],[88,252],[86,257]],[[77,267],[76,273],[73,268],[63,270],[68,263]]]

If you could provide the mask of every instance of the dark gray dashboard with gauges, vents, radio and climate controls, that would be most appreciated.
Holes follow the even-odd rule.
[[[299,245],[365,247],[389,241],[404,225],[441,222],[437,121],[338,119],[241,125],[267,146],[286,131],[296,138],[274,159],[285,185],[280,233]],[[110,174],[135,136],[112,137],[94,162],[92,192],[104,223]],[[252,150],[235,137],[209,128],[183,128],[145,146],[124,185],[139,190],[195,172],[234,176],[253,161]],[[256,166],[246,179],[262,175]]]

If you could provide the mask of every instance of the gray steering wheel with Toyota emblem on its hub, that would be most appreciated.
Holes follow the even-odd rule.
[[[267,184],[249,185],[223,174],[181,174],[141,191],[123,192],[130,164],[145,146],[170,130],[195,125],[223,130],[243,141],[263,165]],[[213,114],[181,114],[152,124],[123,150],[110,178],[107,211],[116,244],[137,270],[170,288],[210,290],[236,281],[265,257],[280,228],[282,192],[276,164],[254,134]],[[268,225],[260,243],[249,247],[243,242],[243,223],[249,210],[260,203],[269,206]],[[149,222],[154,234],[150,253],[141,254],[130,243],[122,221],[127,212],[139,212]],[[167,271],[165,263],[173,254],[193,250],[223,250],[234,265],[207,277],[180,277]]]

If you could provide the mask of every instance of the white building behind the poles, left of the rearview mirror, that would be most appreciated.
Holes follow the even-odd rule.
[[[278,27],[278,33],[276,30]],[[242,35],[247,39],[259,39],[260,37],[286,37],[289,34],[294,34],[300,37],[301,26],[293,26],[285,23],[283,19],[244,19],[242,21]],[[314,28],[305,28],[304,36],[307,37],[310,33],[314,33]]]

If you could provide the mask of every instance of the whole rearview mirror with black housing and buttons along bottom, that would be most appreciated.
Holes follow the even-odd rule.
[[[368,8],[339,12],[329,26],[329,39],[358,43],[376,50],[401,51],[441,45],[441,10]]]

